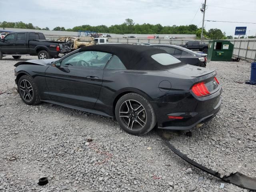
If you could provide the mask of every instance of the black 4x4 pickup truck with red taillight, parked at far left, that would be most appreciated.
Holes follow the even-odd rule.
[[[38,32],[11,32],[0,40],[0,60],[8,55],[14,59],[28,55],[37,55],[38,59],[58,58],[70,51],[68,43],[46,40]]]

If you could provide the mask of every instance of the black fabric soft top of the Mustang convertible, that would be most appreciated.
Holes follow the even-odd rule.
[[[165,70],[177,66],[164,66],[151,56],[158,53],[167,53],[165,50],[150,46],[130,44],[100,44],[80,48],[81,51],[102,51],[114,54],[120,58],[126,69],[129,70]],[[180,65],[181,63],[178,63]]]

